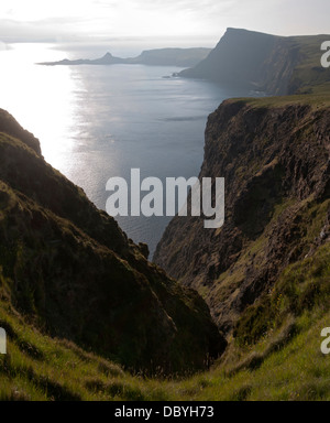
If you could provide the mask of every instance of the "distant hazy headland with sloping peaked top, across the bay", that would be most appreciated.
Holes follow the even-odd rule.
[[[285,37],[230,28],[205,61],[179,76],[271,95],[309,93],[330,82],[320,64],[320,47],[327,40],[330,35]]]

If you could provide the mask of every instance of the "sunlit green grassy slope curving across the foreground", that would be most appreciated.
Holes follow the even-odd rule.
[[[41,335],[2,293],[0,326],[9,335],[9,354],[0,357],[0,400],[329,400],[330,357],[320,351],[320,333],[330,322],[329,278],[328,243],[279,281],[298,297],[320,283],[309,310],[286,313],[257,345],[232,344],[210,372],[177,381],[133,377],[72,343]],[[276,293],[278,313],[293,302],[289,292]]]

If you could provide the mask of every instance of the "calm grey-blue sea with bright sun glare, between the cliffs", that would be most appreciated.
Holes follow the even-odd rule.
[[[229,97],[218,85],[168,78],[180,68],[113,65],[46,67],[66,57],[52,45],[0,52],[0,108],[41,141],[43,155],[101,209],[110,177],[198,176],[207,117]],[[92,56],[92,55],[90,55]],[[221,176],[221,175],[219,175]],[[122,229],[153,254],[170,218],[119,217]]]

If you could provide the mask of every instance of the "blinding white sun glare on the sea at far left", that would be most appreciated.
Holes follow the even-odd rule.
[[[70,137],[77,119],[76,82],[69,67],[36,65],[64,57],[65,53],[47,47],[16,44],[0,52],[0,108],[33,132],[41,141],[45,159],[64,170],[64,156],[73,148]]]

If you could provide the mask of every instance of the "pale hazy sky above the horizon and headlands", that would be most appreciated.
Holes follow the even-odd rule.
[[[212,45],[228,26],[330,33],[329,0],[1,0],[0,42],[168,40]]]

